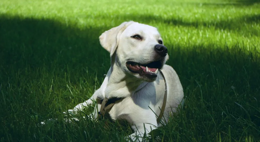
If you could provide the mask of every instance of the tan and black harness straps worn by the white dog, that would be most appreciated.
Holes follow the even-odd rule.
[[[166,106],[166,101],[167,101],[167,83],[166,83],[166,79],[164,77],[164,74],[162,73],[161,70],[159,70],[163,79],[164,79],[164,82],[165,82],[165,92],[164,92],[164,100],[163,100],[163,103],[162,103],[162,107],[160,109],[160,114],[157,118],[157,123],[160,122],[160,119],[162,118],[163,114],[164,114],[164,110],[165,110],[165,106]],[[98,112],[98,118],[99,119],[102,119],[104,116],[106,116],[106,114],[111,110],[111,108],[114,106],[115,102],[116,101],[119,101],[119,100],[122,100],[124,98],[104,98],[104,99],[101,99],[101,98],[98,98],[96,99],[96,102],[97,104],[101,104],[101,107],[100,107],[100,111]]]

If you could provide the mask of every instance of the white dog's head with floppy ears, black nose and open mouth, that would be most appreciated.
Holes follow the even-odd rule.
[[[168,60],[167,48],[157,28],[129,21],[102,33],[100,44],[111,57],[111,66],[152,82]]]

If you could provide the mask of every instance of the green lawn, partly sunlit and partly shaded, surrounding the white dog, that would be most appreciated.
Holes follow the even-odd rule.
[[[62,112],[87,100],[110,66],[99,35],[123,21],[159,29],[186,98],[154,132],[164,141],[260,141],[260,3],[1,0],[0,140],[122,141],[128,131]],[[49,118],[56,123],[36,126]]]

